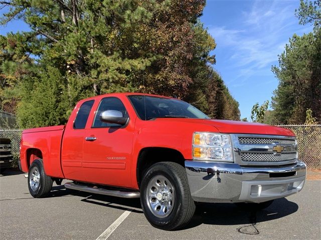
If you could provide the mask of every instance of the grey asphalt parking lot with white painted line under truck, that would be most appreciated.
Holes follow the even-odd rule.
[[[66,182],[66,181],[64,181]],[[21,172],[0,176],[1,239],[320,239],[321,180],[261,211],[199,204],[185,229],[164,231],[145,219],[138,199],[93,195],[54,185],[33,198]],[[100,236],[100,237],[99,237]]]

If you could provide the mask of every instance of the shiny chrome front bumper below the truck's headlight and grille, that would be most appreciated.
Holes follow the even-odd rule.
[[[302,189],[306,175],[302,161],[250,167],[186,160],[185,168],[192,197],[200,202],[264,202],[288,196]]]

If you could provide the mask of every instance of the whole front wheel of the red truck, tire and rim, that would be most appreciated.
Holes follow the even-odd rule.
[[[145,172],[140,203],[151,225],[164,230],[182,228],[195,212],[185,168],[176,162],[158,162]]]

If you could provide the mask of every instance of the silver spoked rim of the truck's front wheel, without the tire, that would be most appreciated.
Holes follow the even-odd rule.
[[[149,210],[157,217],[163,218],[172,212],[175,192],[167,177],[156,175],[150,179],[146,190],[146,201]]]

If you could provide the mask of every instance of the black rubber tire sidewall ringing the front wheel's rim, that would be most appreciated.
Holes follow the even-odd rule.
[[[149,209],[147,205],[146,200],[146,190],[147,185],[150,179],[156,175],[163,175],[169,179],[169,181],[172,183],[174,187],[174,194],[175,194],[175,200],[174,205],[171,213],[164,217],[160,218],[155,216]],[[162,163],[156,163],[152,167],[150,167],[142,180],[142,183],[140,185],[140,203],[143,209],[143,212],[147,218],[147,220],[155,227],[162,228],[162,229],[171,229],[172,226],[168,225],[169,222],[176,222],[179,218],[181,207],[182,207],[182,183],[180,182],[179,177],[177,176],[176,172],[172,171],[171,168],[167,167],[165,164]]]

